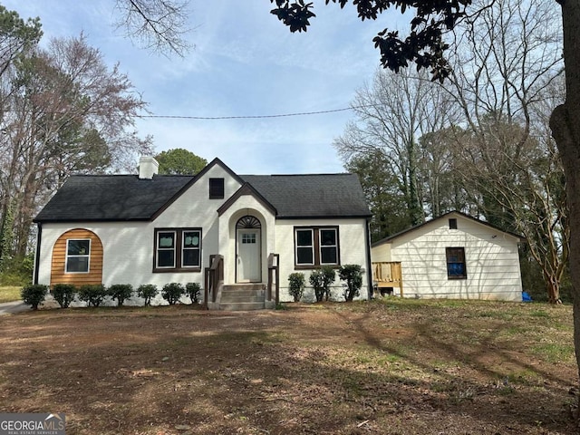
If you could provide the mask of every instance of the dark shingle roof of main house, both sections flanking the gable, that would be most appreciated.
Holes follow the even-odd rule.
[[[150,220],[193,176],[73,176],[34,219],[36,222]],[[276,210],[277,218],[369,217],[352,174],[242,176]]]

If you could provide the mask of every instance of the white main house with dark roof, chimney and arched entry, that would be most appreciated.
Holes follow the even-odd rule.
[[[212,307],[244,289],[245,306],[264,307],[275,301],[268,283],[288,301],[291,273],[308,282],[318,266],[357,264],[371,294],[370,212],[355,175],[239,176],[216,159],[196,176],[162,176],[158,166],[141,158],[139,175],[68,179],[34,219],[34,282],[197,282]]]

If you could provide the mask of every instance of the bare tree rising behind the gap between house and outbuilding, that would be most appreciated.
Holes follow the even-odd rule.
[[[356,93],[351,104],[356,120],[334,140],[345,162],[358,155],[382,154],[399,181],[411,225],[425,218],[419,138],[450,125],[454,106],[449,102],[446,92],[425,72],[379,70],[372,85]]]

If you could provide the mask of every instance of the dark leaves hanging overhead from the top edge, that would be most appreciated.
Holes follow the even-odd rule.
[[[304,0],[270,0],[275,3],[275,14],[280,21],[290,27],[291,32],[305,32],[310,19],[316,16],[312,3]],[[458,20],[465,14],[466,6],[472,0],[325,0],[326,5],[336,3],[343,8],[352,3],[356,6],[358,17],[364,21],[376,20],[391,6],[401,14],[414,9],[411,19],[411,33],[401,39],[398,32],[384,29],[372,40],[381,51],[383,68],[399,72],[401,68],[415,63],[417,69],[430,70],[433,80],[443,81],[449,75],[449,63],[445,60],[445,50],[449,48],[443,42],[443,34],[453,29]]]

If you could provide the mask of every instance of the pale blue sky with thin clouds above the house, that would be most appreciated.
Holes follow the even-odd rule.
[[[379,63],[372,37],[404,28],[396,11],[360,22],[351,5],[314,1],[305,34],[291,34],[269,0],[191,0],[185,58],[150,53],[115,30],[114,0],[0,0],[21,17],[39,16],[44,38],[78,36],[120,63],[154,115],[256,116],[349,107]],[[397,21],[399,20],[399,21]],[[343,172],[333,139],[353,113],[237,120],[144,118],[156,151],[184,148],[223,160],[239,174]]]

